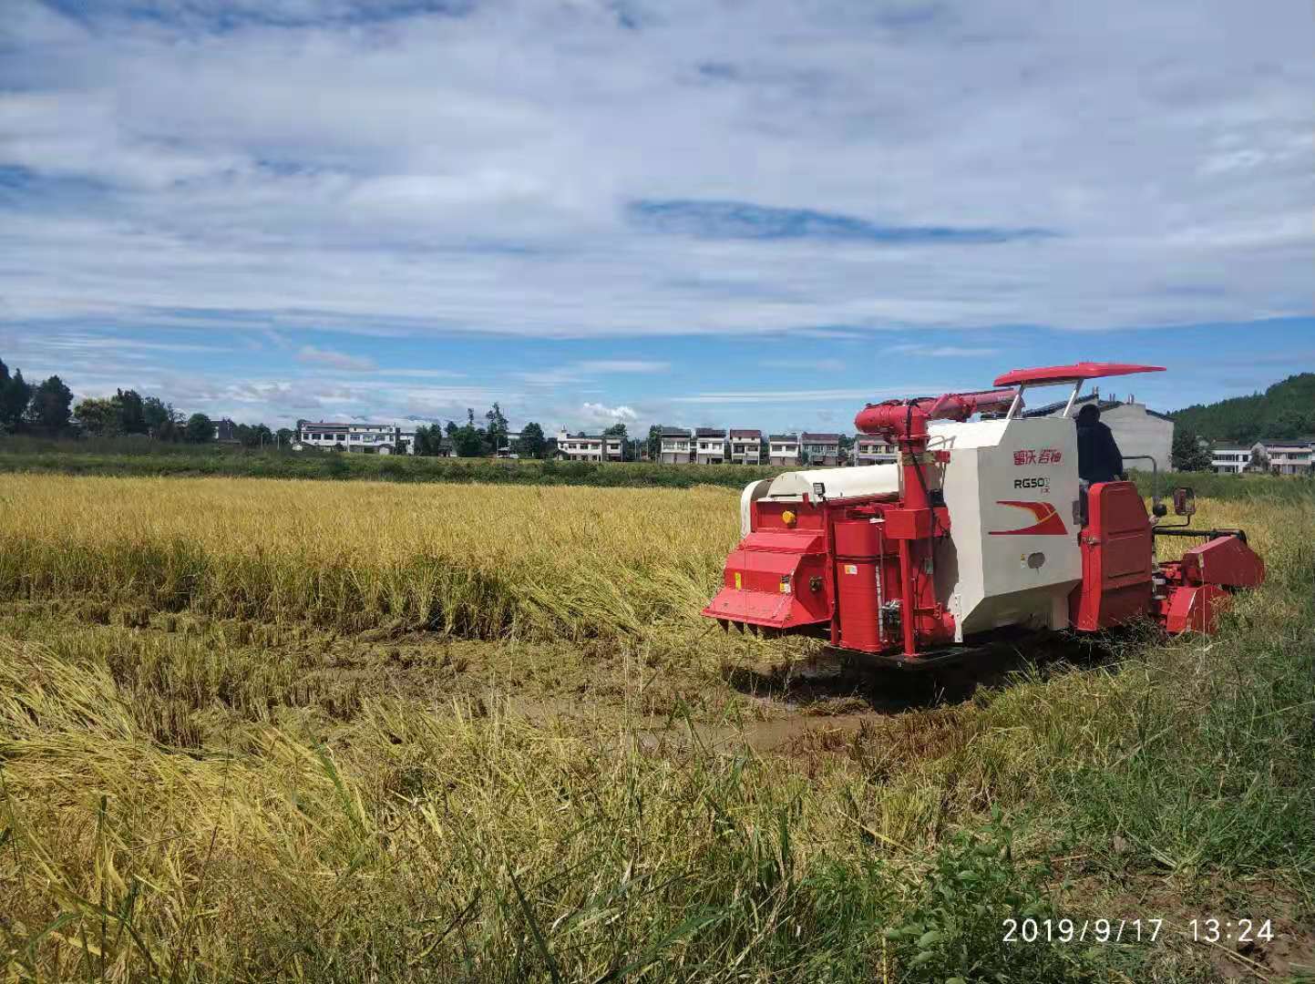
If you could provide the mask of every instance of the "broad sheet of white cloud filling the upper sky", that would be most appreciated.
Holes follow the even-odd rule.
[[[68,183],[5,212],[16,318],[654,335],[1307,308],[1299,5],[689,0],[627,29],[604,4],[370,25],[308,0],[222,30],[203,3],[95,29],[11,8],[0,163]],[[634,229],[635,199],[1059,235],[698,239]]]

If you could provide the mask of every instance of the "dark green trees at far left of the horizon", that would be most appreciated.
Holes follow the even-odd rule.
[[[292,439],[288,428],[271,430],[264,424],[233,424],[231,428],[231,439],[247,447]],[[171,443],[204,445],[216,439],[217,424],[204,413],[185,416],[174,404],[142,396],[135,389],[87,397],[74,405],[72,391],[59,376],[28,383],[22,370],[11,374],[0,360],[0,434],[66,437],[72,433],[99,438],[142,435]]]

